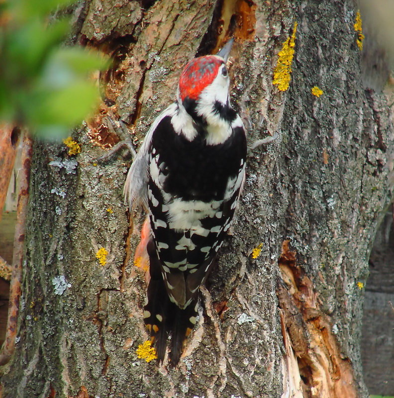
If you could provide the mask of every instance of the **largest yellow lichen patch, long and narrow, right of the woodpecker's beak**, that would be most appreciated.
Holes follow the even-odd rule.
[[[286,91],[290,86],[292,62],[296,45],[297,22],[294,22],[293,34],[288,37],[279,52],[277,66],[274,69],[272,84],[278,86],[279,91]]]

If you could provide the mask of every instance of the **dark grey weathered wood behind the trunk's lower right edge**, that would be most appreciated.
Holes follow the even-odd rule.
[[[389,209],[370,256],[361,341],[365,383],[382,396],[394,392],[394,226]]]

